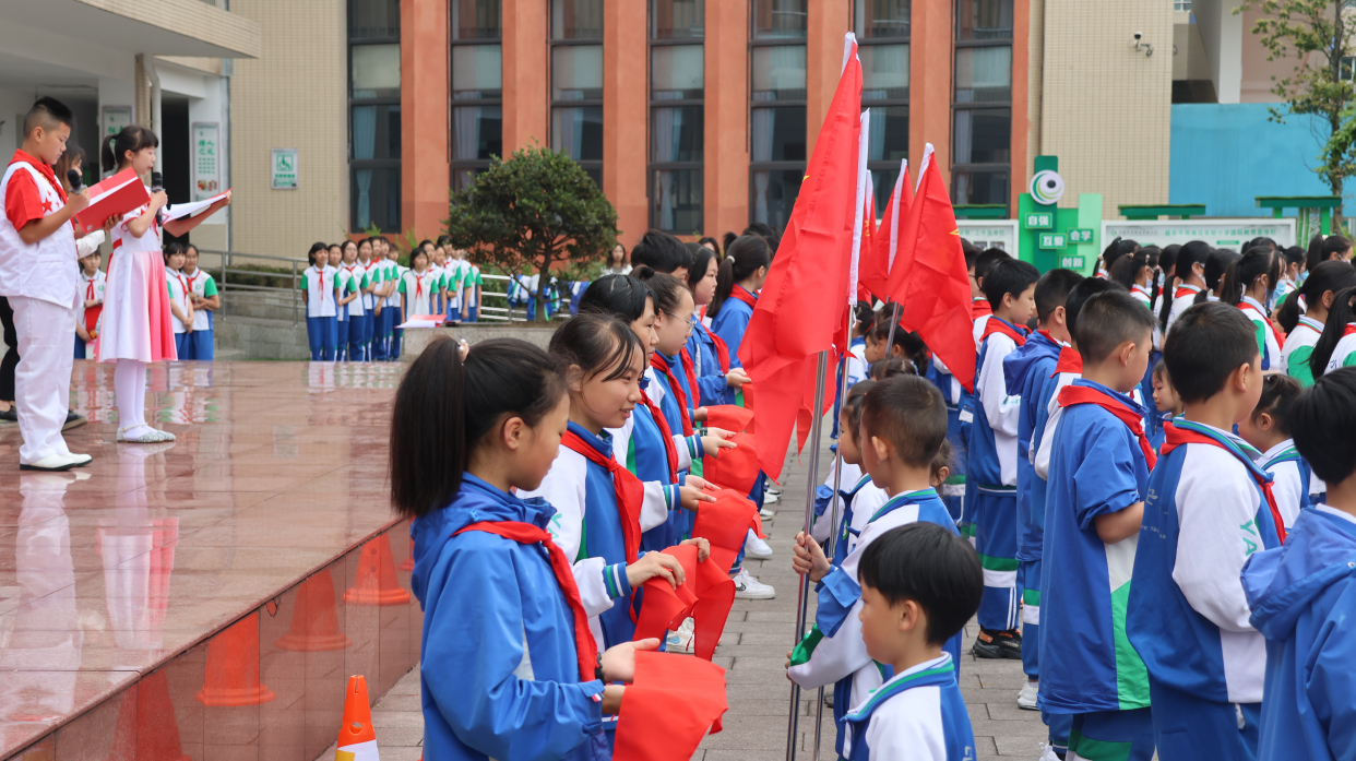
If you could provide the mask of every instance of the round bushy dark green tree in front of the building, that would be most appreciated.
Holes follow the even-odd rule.
[[[617,210],[571,157],[545,148],[498,156],[466,190],[452,194],[443,225],[453,246],[510,273],[536,270],[537,320],[556,265],[601,260],[617,243]]]

